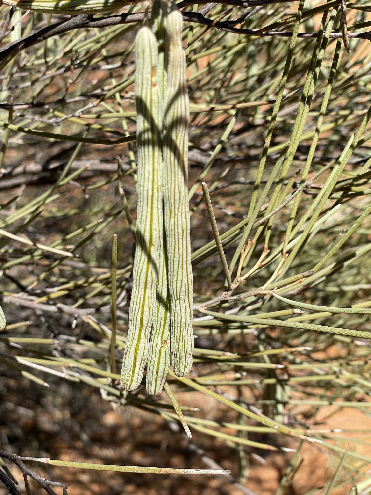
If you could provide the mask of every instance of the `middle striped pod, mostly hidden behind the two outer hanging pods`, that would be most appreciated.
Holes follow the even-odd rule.
[[[165,67],[165,22],[167,5],[164,0],[155,0],[152,7],[151,27],[158,42],[157,75],[161,96],[161,123],[164,116],[164,96],[166,89]],[[161,129],[162,131],[162,129]],[[147,363],[146,388],[151,396],[161,394],[170,364],[170,315],[168,292],[168,269],[166,236],[163,232],[159,254],[159,275],[157,282],[156,311],[150,339]]]

